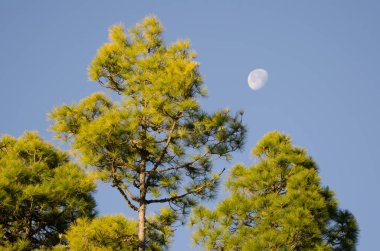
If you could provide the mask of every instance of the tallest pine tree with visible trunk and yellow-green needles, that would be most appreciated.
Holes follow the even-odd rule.
[[[147,206],[166,203],[186,214],[212,197],[220,175],[213,160],[229,159],[245,135],[241,114],[200,108],[197,99],[206,93],[196,54],[186,40],[166,45],[162,31],[155,17],[129,32],[112,27],[89,76],[120,100],[95,93],[50,114],[57,137],[138,212],[140,250]]]

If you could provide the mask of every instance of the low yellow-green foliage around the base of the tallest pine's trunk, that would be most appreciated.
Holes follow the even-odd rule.
[[[161,209],[160,215],[148,217],[147,248],[164,250],[171,242],[176,220],[171,210]],[[122,215],[78,219],[65,236],[71,250],[136,250],[139,246],[138,223]]]

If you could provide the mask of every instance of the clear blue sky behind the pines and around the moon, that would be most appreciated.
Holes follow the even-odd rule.
[[[139,2],[139,3],[137,3]],[[127,27],[157,15],[168,43],[189,38],[213,111],[243,109],[250,164],[266,132],[290,134],[319,164],[324,185],[356,216],[359,250],[378,248],[380,218],[380,1],[17,1],[0,2],[0,134],[47,132],[53,106],[101,90],[87,66],[112,24]],[[269,72],[260,91],[248,88],[254,68]],[[103,186],[101,214],[129,211]],[[223,196],[223,190],[221,196]],[[180,228],[173,250],[192,250]]]

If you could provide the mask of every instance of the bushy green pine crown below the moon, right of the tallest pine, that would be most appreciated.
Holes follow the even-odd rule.
[[[193,211],[195,243],[206,250],[355,250],[355,218],[337,208],[304,149],[271,132],[253,154],[252,167],[233,167],[229,197],[215,210]]]

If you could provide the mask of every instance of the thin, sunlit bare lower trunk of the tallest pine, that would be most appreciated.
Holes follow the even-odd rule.
[[[139,251],[145,251],[145,213],[146,213],[146,184],[145,184],[145,162],[141,163],[140,170],[140,207],[139,207]]]

